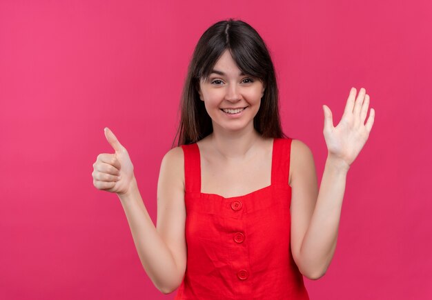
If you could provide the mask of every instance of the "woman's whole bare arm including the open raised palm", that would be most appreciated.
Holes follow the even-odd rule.
[[[333,127],[331,111],[324,107],[328,157],[317,195],[311,151],[300,141],[293,141],[291,248],[300,272],[309,279],[322,277],[333,259],[346,174],[373,126],[374,110],[364,124],[369,95],[362,89],[355,101],[355,94],[355,89],[351,89],[344,116],[336,128]]]

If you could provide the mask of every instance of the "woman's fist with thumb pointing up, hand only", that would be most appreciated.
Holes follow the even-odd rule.
[[[93,163],[93,185],[98,190],[126,194],[134,181],[132,161],[114,133],[108,128],[105,128],[104,132],[115,153],[101,153],[97,156]]]

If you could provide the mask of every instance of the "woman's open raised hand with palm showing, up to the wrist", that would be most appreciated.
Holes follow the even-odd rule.
[[[333,127],[333,117],[330,108],[324,109],[324,139],[326,140],[328,157],[348,168],[362,150],[372,130],[375,110],[371,108],[369,118],[364,123],[369,108],[369,95],[364,88],[355,99],[357,90],[351,88],[342,119]]]

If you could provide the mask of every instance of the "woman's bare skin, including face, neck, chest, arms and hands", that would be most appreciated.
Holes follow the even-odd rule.
[[[253,128],[265,87],[247,74],[240,75],[228,51],[214,70],[224,74],[210,74],[199,86],[213,122],[213,133],[197,143],[202,154],[202,192],[235,197],[271,183],[273,139],[262,138]],[[300,272],[309,279],[322,277],[333,259],[346,174],[373,126],[373,109],[365,123],[369,95],[364,88],[357,98],[356,94],[351,88],[336,127],[331,110],[323,106],[328,156],[320,190],[311,150],[299,140],[291,145],[291,250]],[[246,107],[237,119],[221,110],[237,107]],[[155,227],[139,194],[126,148],[108,128],[105,134],[115,153],[99,154],[93,165],[93,183],[99,190],[117,193],[144,269],[161,292],[172,292],[186,270],[183,150],[173,148],[162,159]]]

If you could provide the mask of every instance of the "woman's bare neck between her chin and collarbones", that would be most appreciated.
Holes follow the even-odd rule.
[[[246,128],[245,128],[246,129]],[[224,159],[244,159],[253,153],[255,143],[261,139],[255,128],[226,132],[214,130],[211,134],[211,143],[214,150]]]

